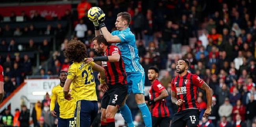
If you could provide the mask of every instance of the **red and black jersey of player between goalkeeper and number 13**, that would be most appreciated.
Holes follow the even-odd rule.
[[[160,96],[162,90],[165,90],[165,87],[158,80],[155,80],[149,89],[150,100]],[[156,101],[156,103],[151,105],[151,115],[154,117],[170,116],[165,99]]]

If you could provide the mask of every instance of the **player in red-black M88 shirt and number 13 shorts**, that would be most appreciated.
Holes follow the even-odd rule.
[[[189,61],[179,59],[176,63],[178,75],[171,82],[171,100],[178,105],[178,112],[174,114],[171,127],[198,127],[199,126],[199,104],[197,102],[197,88],[206,91],[207,109],[204,117],[211,114],[211,88],[197,75],[187,72]]]

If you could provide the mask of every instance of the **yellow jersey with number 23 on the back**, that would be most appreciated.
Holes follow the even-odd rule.
[[[73,80],[72,91],[76,101],[97,101],[96,85],[93,76],[94,62],[74,62],[69,66],[67,79]],[[71,95],[72,96],[72,95]]]

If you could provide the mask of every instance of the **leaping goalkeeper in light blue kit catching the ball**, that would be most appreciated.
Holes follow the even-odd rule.
[[[137,107],[141,110],[144,123],[146,127],[151,127],[151,115],[145,103],[144,97],[145,72],[139,63],[140,58],[135,44],[135,36],[129,28],[131,15],[127,12],[119,13],[115,22],[117,30],[113,31],[112,33],[109,33],[104,24],[105,14],[103,11],[99,11],[96,18],[97,22],[93,22],[95,25],[95,35],[104,35],[104,38],[108,43],[116,43],[116,46],[121,51],[127,74],[128,94],[131,92],[135,94],[135,101],[137,103]],[[132,114],[128,106],[124,105],[119,109],[124,120],[128,123],[128,126],[133,127]]]

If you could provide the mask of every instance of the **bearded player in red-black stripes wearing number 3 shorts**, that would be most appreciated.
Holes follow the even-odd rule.
[[[101,101],[101,127],[115,127],[115,114],[118,107],[125,104],[127,95],[127,81],[124,62],[117,46],[111,46],[103,35],[93,38],[94,49],[101,53],[102,57],[87,58],[85,62],[104,61],[108,91],[104,93]],[[122,105],[121,105],[122,104]]]

